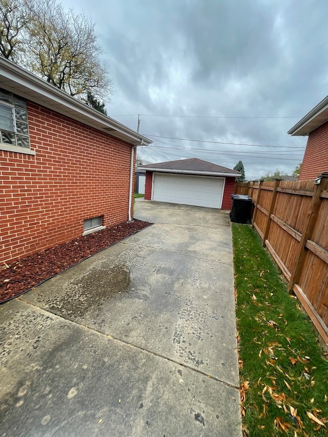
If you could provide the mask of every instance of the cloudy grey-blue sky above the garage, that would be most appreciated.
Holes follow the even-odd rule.
[[[287,131],[328,94],[327,0],[66,0],[110,65],[108,114],[153,139],[142,158],[291,174]]]

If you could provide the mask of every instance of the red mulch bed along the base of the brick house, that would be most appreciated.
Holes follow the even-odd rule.
[[[64,272],[72,265],[151,224],[140,220],[118,223],[93,234],[29,255],[9,265],[1,266],[0,303],[25,293],[46,279]]]

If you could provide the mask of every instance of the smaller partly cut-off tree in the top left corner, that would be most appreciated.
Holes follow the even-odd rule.
[[[24,0],[0,0],[0,53],[15,60],[24,50],[29,10]]]

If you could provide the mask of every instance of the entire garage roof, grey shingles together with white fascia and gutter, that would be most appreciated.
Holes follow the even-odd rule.
[[[186,173],[206,176],[232,176],[238,177],[241,173],[235,170],[203,161],[198,158],[180,159],[178,161],[157,162],[155,164],[140,165],[138,170],[148,170],[165,173]]]

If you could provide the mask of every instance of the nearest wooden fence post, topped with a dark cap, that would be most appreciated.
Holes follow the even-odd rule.
[[[320,200],[321,191],[326,190],[328,186],[328,174],[326,174],[326,172],[322,173],[321,175],[318,176],[318,179],[320,177],[321,179],[319,181],[319,184],[316,184],[314,187],[311,206],[304,222],[301,240],[298,245],[295,263],[291,273],[291,279],[288,283],[288,291],[290,293],[293,291],[294,285],[298,283],[299,278],[301,276],[302,267],[306,255],[305,244],[306,244],[306,240],[308,240],[311,237],[314,225],[317,220],[317,216],[321,204],[321,200]]]

